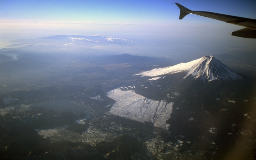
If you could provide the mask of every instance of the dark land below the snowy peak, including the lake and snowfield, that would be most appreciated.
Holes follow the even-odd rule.
[[[18,70],[1,73],[1,158],[253,158],[254,79],[141,76],[167,62],[115,58],[52,57],[38,69],[14,61]]]

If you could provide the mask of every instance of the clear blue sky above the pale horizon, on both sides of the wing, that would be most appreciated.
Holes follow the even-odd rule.
[[[1,0],[0,18],[60,20],[63,22],[170,23],[177,11],[174,2],[196,11],[212,11],[255,18],[254,0]]]

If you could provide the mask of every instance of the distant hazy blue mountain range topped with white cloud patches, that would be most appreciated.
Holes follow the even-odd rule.
[[[133,41],[107,35],[56,35],[37,39],[14,40],[6,49],[51,53],[129,53]]]

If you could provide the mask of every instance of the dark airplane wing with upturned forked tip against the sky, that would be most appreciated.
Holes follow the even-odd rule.
[[[191,11],[188,8],[178,3],[175,3],[175,4],[180,8],[179,19],[184,18],[188,14],[195,14],[198,16],[212,18],[212,19],[220,20],[233,25],[240,25],[245,27],[243,29],[232,32],[231,35],[233,36],[243,37],[243,38],[256,38],[256,19],[236,17],[236,16],[230,16],[230,15],[207,12],[207,11]]]

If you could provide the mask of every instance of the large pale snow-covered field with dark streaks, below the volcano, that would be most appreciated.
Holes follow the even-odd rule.
[[[173,102],[156,101],[136,94],[132,90],[117,88],[109,91],[107,96],[116,100],[110,113],[140,122],[153,122],[155,127],[168,129],[166,120],[171,117]]]

